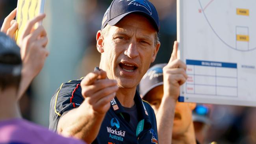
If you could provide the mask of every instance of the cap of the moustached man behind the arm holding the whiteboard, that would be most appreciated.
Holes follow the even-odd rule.
[[[163,85],[163,67],[167,63],[156,64],[148,69],[139,83],[139,93],[143,98],[150,90]]]

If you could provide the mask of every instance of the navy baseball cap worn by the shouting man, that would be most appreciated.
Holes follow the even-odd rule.
[[[159,16],[154,5],[148,0],[113,0],[102,19],[101,29],[107,24],[115,26],[122,18],[130,13],[145,15],[157,32],[159,32]]]

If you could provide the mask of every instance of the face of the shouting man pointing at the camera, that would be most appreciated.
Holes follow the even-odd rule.
[[[105,35],[98,33],[97,48],[102,53],[100,66],[108,78],[116,79],[122,88],[136,87],[160,47],[154,43],[155,34],[150,21],[137,14],[130,14],[110,26]]]

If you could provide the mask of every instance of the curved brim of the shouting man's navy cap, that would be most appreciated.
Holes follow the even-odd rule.
[[[119,16],[113,18],[112,20],[109,20],[107,23],[110,26],[115,26],[120,20],[122,20],[122,18],[124,18],[125,16],[127,16],[131,13],[139,13],[139,14],[142,14],[145,17],[147,17],[152,22],[156,31],[159,32],[159,28],[158,28],[158,25],[156,24],[156,21],[148,13],[145,13],[144,11],[131,11],[131,12],[128,12],[128,13],[124,13],[122,15],[119,15]]]

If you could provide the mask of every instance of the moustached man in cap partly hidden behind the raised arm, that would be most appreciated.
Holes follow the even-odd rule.
[[[158,113],[160,107],[166,107],[167,111],[171,110],[171,105],[166,105],[166,103],[163,102],[163,96],[166,93],[164,85],[171,85],[163,82],[163,67],[166,65],[166,63],[163,63],[152,66],[139,83],[141,98],[150,103],[156,113],[156,117],[164,116],[162,113]],[[170,144],[198,144],[192,118],[192,111],[195,107],[196,103],[176,103],[173,131],[169,133],[169,138],[172,138]],[[172,124],[172,121],[166,120],[166,123]],[[165,132],[165,129],[158,128],[158,131],[162,130]],[[168,138],[165,138],[165,140],[166,139]],[[164,142],[164,144],[167,143],[169,142]]]

